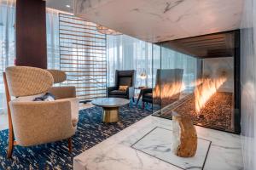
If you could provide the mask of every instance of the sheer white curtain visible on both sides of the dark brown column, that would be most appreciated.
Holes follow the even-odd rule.
[[[3,71],[15,65],[15,0],[0,0],[0,114],[6,113]],[[60,69],[59,11],[47,8],[48,68]]]

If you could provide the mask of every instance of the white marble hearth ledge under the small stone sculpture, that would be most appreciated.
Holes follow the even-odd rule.
[[[179,158],[170,150],[171,131],[172,121],[148,116],[76,156],[74,170],[243,168],[239,135],[196,127],[200,140],[195,157]]]

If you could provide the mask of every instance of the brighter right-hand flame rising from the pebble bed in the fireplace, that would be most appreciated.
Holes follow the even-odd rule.
[[[195,82],[200,84],[196,86],[195,94],[195,111],[197,114],[200,113],[201,109],[207,104],[207,101],[211,99],[212,95],[218,91],[224,82],[227,81],[225,76],[218,78],[203,78]]]

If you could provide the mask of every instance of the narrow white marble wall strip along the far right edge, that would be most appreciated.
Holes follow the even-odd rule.
[[[244,169],[256,169],[256,0],[245,0],[241,20],[241,142]]]

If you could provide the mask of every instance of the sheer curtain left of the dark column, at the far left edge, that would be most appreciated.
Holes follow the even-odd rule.
[[[6,113],[3,71],[15,65],[15,1],[0,0],[0,114]]]

